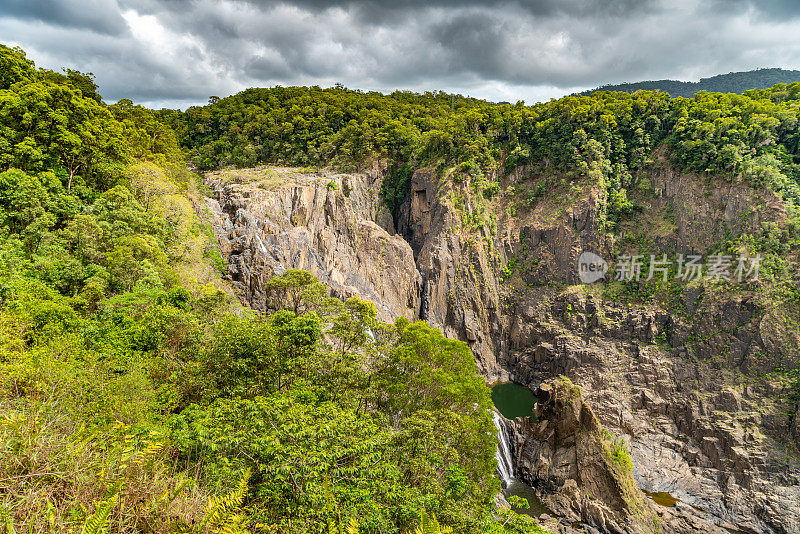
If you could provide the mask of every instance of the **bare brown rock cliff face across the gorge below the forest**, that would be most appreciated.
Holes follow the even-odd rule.
[[[559,185],[525,168],[503,177],[504,193],[490,201],[468,182],[417,171],[394,219],[379,201],[379,167],[269,173],[277,177],[207,177],[230,276],[254,307],[263,306],[264,282],[293,267],[310,270],[338,296],[375,301],[383,319],[422,314],[472,347],[487,380],[535,388],[565,375],[580,386],[597,423],[626,436],[638,485],[679,499],[674,508],[652,505],[663,531],[717,524],[800,532],[800,414],[790,413],[797,408],[789,386],[769,378],[800,366],[791,319],[758,287],[730,294],[686,284],[665,305],[630,301],[614,284],[579,285],[576,268],[583,251],[609,257],[641,236],[664,252],[707,253],[725,236],[757,233],[764,223],[780,230],[785,214],[774,195],[677,173],[662,158],[637,199],[645,209],[622,224],[615,242],[603,231],[605,198],[596,185]],[[513,193],[539,183],[546,187],[534,201]],[[531,453],[542,441],[538,427],[515,427],[519,474],[549,477]],[[583,518],[583,501],[570,502]],[[624,504],[599,504],[608,513],[583,521],[635,531],[617,515]]]

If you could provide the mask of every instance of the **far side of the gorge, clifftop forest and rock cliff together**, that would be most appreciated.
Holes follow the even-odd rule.
[[[467,343],[490,383],[568,377],[602,441],[576,452],[542,421],[504,425],[514,476],[561,518],[773,534],[800,527],[799,98],[800,83],[530,107],[277,87],[170,120],[208,169],[251,306],[275,272],[306,269]],[[605,281],[580,283],[582,251],[608,260]]]

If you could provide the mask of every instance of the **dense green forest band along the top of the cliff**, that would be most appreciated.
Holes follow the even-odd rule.
[[[342,87],[248,89],[186,112],[162,112],[199,170],[260,163],[354,170],[390,162],[396,208],[410,172],[434,166],[490,197],[515,166],[590,177],[608,218],[632,212],[628,191],[665,147],[681,170],[713,173],[800,201],[800,82],[744,95],[602,91],[526,107],[441,92],[389,95]]]

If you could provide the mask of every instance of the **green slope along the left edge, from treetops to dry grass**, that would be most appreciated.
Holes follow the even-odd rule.
[[[154,436],[199,397],[199,363],[186,355],[199,352],[203,284],[217,278],[177,194],[193,178],[176,170],[174,136],[129,151],[150,135],[153,112],[119,122],[91,76],[37,71],[5,47],[0,62],[0,478],[18,503],[9,524],[178,529],[170,507],[192,508],[188,477]]]

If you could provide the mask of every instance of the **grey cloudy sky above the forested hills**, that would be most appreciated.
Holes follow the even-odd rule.
[[[93,72],[107,102],[342,83],[532,104],[800,69],[800,0],[0,0],[0,43]]]

